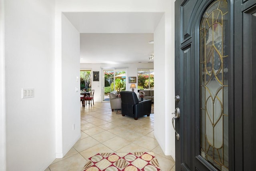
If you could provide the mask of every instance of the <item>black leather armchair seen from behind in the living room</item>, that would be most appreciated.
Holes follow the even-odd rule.
[[[151,100],[138,100],[138,97],[133,91],[120,91],[122,99],[122,115],[128,115],[134,117],[135,120],[140,116],[151,113]]]

